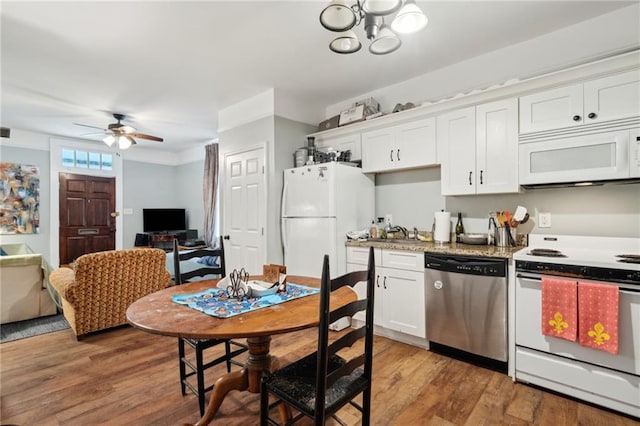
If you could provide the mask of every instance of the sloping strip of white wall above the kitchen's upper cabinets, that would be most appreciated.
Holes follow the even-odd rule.
[[[397,103],[437,101],[484,89],[514,78],[524,79],[640,47],[640,4],[467,59],[411,80],[329,105],[326,117],[355,101],[374,97],[384,112]],[[482,35],[474,35],[482,37]],[[455,47],[452,47],[455,48]]]

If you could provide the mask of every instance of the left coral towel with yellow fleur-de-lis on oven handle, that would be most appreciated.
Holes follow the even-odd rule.
[[[542,334],[575,342],[578,334],[575,281],[542,277]]]

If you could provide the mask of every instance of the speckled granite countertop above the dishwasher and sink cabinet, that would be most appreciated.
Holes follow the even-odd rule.
[[[347,247],[374,247],[388,250],[407,250],[426,253],[453,254],[462,256],[501,257],[511,259],[513,254],[524,247],[496,247],[489,245],[433,243],[415,240],[387,239],[375,241],[347,240]]]

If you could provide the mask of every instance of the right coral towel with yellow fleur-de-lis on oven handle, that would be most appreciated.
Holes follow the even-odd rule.
[[[580,345],[617,355],[619,310],[617,286],[578,282]]]

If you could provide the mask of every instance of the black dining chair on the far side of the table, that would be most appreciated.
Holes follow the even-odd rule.
[[[184,262],[189,259],[199,258],[195,269],[180,272],[180,262]],[[220,237],[220,247],[216,249],[205,248],[196,249],[190,251],[179,251],[178,240],[173,241],[173,269],[176,285],[188,282],[195,277],[203,277],[206,275],[215,275],[216,277],[224,278],[226,276],[226,270],[224,266],[224,244],[222,237]],[[204,351],[224,344],[224,354],[209,361],[204,362]],[[186,356],[185,347],[189,346],[193,349],[195,355],[195,364]],[[233,346],[233,350],[232,350]],[[193,392],[198,398],[198,405],[200,407],[200,415],[204,415],[205,409],[205,394],[213,389],[213,384],[205,386],[204,372],[208,368],[215,365],[226,362],[227,372],[231,372],[231,364],[244,367],[244,364],[235,360],[234,358],[247,351],[247,346],[235,342],[233,340],[226,339],[191,339],[191,338],[178,338],[178,356],[180,359],[180,389],[182,395],[186,395],[187,388]],[[192,359],[192,358],[191,358]],[[191,382],[189,378],[196,376],[196,384]]]

